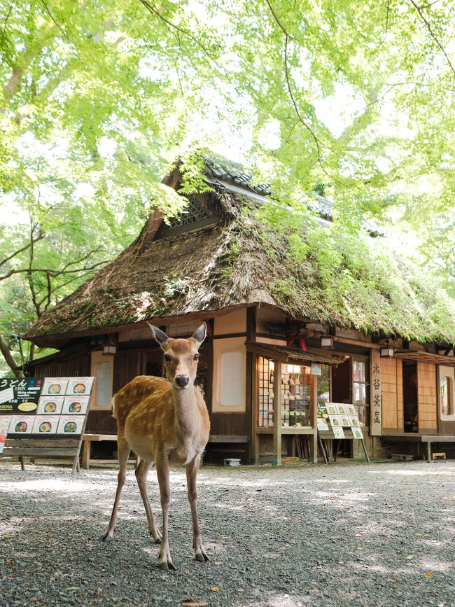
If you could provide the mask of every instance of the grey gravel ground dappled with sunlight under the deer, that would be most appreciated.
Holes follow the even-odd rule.
[[[160,524],[154,470],[149,493]],[[129,470],[111,543],[116,469],[0,464],[0,606],[455,606],[455,462],[293,464],[199,475],[193,557],[183,469],[171,475],[158,568]]]

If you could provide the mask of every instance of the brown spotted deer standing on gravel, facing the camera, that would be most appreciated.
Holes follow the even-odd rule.
[[[139,457],[135,470],[146,510],[148,531],[160,544],[160,568],[175,571],[169,551],[168,515],[170,503],[169,468],[185,466],[193,521],[193,548],[197,561],[208,561],[202,545],[197,518],[197,470],[209,440],[207,406],[194,385],[198,350],[207,337],[206,323],[188,339],[173,339],[148,323],[153,337],[164,352],[166,377],[139,375],[113,396],[113,417],[118,433],[118,482],[111,519],[99,538],[111,541],[117,524],[118,504],[125,484],[130,450]],[[146,487],[148,471],[155,463],[162,508],[162,533],[158,530]]]

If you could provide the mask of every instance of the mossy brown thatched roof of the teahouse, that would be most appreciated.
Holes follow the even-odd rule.
[[[381,277],[366,284],[366,275],[377,273],[372,260],[365,270],[349,270],[349,281],[342,266],[327,277],[311,250],[300,260],[290,256],[292,235],[262,221],[258,202],[223,187],[195,200],[205,209],[204,228],[195,223],[193,232],[172,235],[159,214],[151,216],[118,258],[45,312],[25,338],[52,345],[145,320],[267,304],[293,318],[365,333],[454,340],[451,300],[417,284],[404,265],[395,264],[388,283]]]

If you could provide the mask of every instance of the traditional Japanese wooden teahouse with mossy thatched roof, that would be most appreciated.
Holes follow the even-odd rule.
[[[344,308],[334,309],[311,251],[290,268],[290,235],[260,223],[267,187],[214,158],[205,174],[211,191],[190,195],[181,216],[167,223],[152,213],[118,258],[30,328],[25,339],[59,351],[28,363],[28,374],[94,375],[87,431],[115,434],[112,393],[136,375],[162,375],[146,321],[186,337],[204,320],[209,337],[197,382],[211,415],[208,461],[279,463],[281,454],[295,453],[298,435],[309,437],[315,458],[318,401],[356,406],[372,456],[416,453],[422,441],[453,453],[453,302],[436,305],[437,295],[403,272],[409,301],[400,314],[402,302],[379,288],[367,300],[355,288],[343,291]],[[179,189],[178,167],[165,183]],[[330,223],[330,202],[317,197],[317,204],[319,221]],[[371,224],[364,228],[377,236]],[[304,241],[304,231],[295,235]],[[363,456],[357,441],[342,449]]]

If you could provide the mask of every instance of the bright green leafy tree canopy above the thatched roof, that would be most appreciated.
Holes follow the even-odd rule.
[[[452,8],[0,0],[1,205],[18,209],[15,228],[3,226],[0,288],[29,310],[19,321],[5,305],[3,333],[115,255],[151,205],[174,214],[160,181],[183,155],[185,191],[200,187],[195,148],[239,148],[290,204],[319,184],[351,229],[359,211],[384,217],[394,205],[414,231],[425,217],[423,243],[437,244],[435,228],[453,237]],[[43,239],[30,266],[31,230]]]

